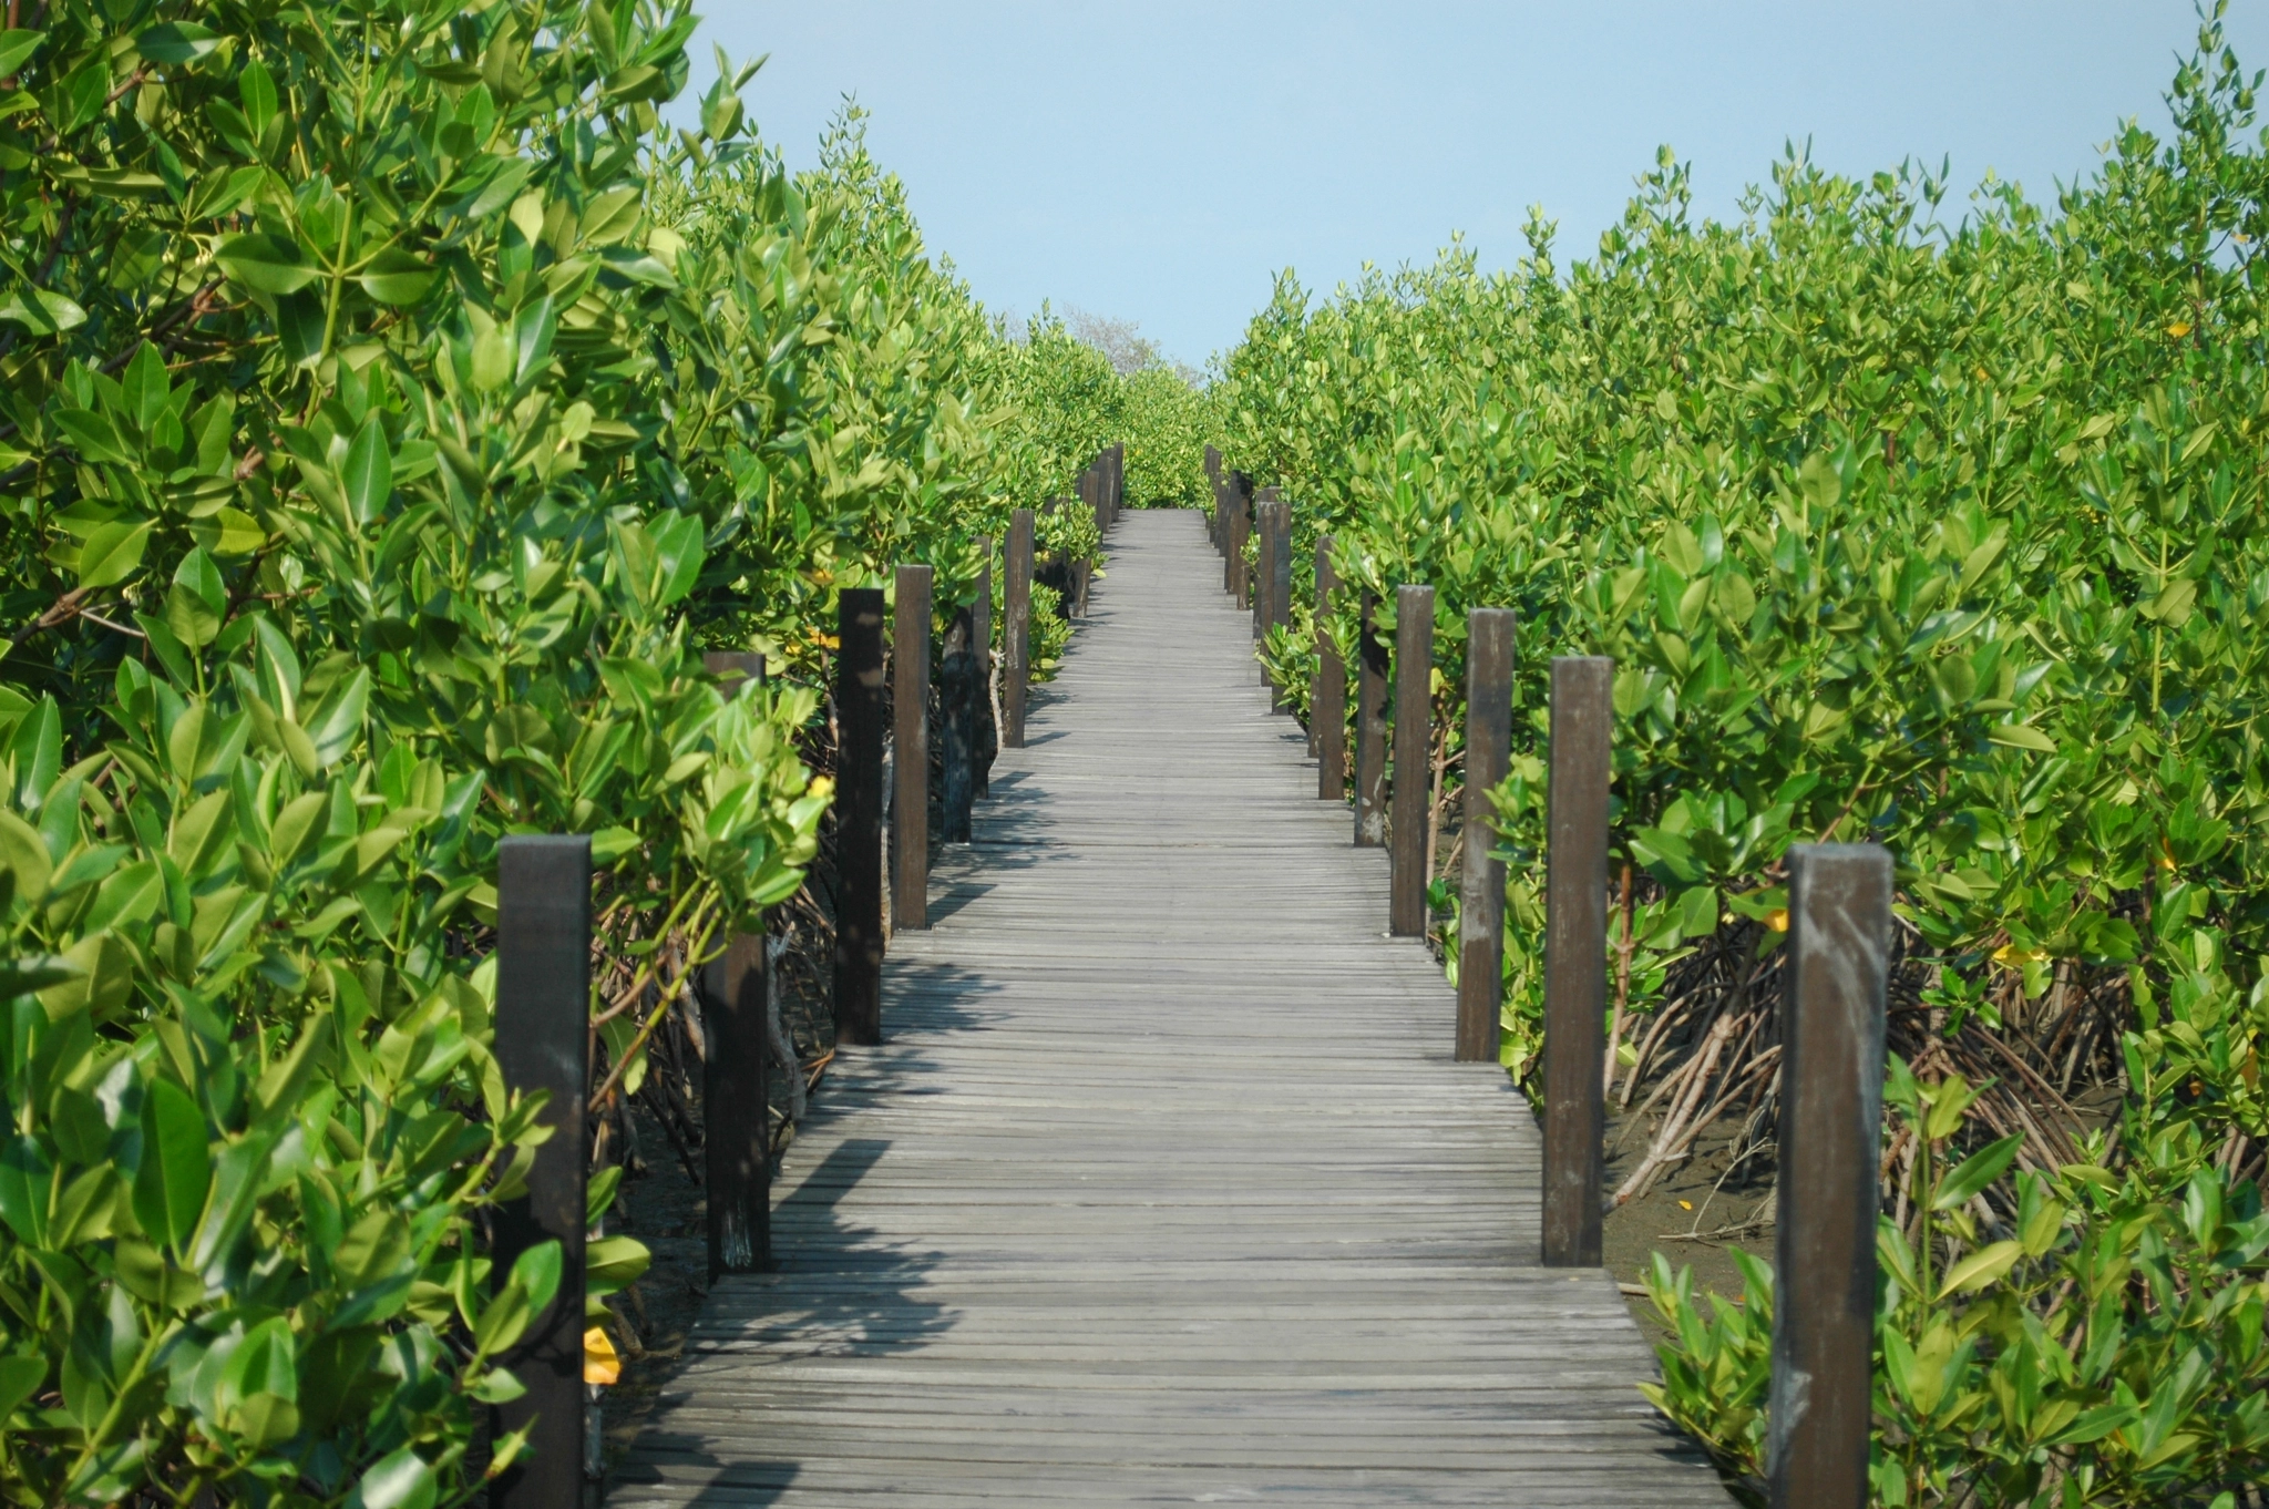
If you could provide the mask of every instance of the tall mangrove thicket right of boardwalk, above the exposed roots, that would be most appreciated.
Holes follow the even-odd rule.
[[[2240,953],[2269,942],[2269,159],[2208,43],[2178,141],[2124,132],[2053,222],[1994,186],[1949,227],[1933,179],[1788,161],[1749,220],[1695,225],[1665,157],[1566,277],[1534,225],[1518,275],[1452,247],[1316,309],[1287,279],[1255,318],[1232,463],[1298,499],[1302,547],[1334,533],[1346,581],[1436,588],[1452,688],[1466,608],[1520,610],[1520,753],[1547,658],[1616,656],[1647,946],[1829,835],[1890,844],[1933,953],[2019,1001],[2060,962],[2124,989],[2146,876]],[[1541,810],[1504,801],[1525,855]]]

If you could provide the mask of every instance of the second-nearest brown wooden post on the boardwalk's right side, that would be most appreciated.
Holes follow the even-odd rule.
[[[1616,663],[1552,660],[1545,796],[1545,1266],[1600,1266],[1606,783]]]

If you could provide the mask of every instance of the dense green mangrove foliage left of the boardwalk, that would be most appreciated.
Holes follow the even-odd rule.
[[[835,592],[967,597],[1032,501],[1023,352],[855,116],[787,175],[726,68],[663,132],[683,0],[39,16],[0,39],[0,1498],[452,1500],[558,1284],[474,1234],[540,1139],[488,1053],[497,840],[592,835],[604,1110],[815,855]],[[785,678],[726,699],[712,644]],[[588,1298],[642,1264],[608,1239]]]

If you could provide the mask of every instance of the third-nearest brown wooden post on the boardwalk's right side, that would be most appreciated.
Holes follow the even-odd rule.
[[[1504,860],[1488,792],[1513,751],[1513,610],[1466,615],[1466,874],[1457,908],[1457,1060],[1498,1062],[1504,1014]]]

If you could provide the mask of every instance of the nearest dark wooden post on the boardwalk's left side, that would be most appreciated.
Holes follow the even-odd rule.
[[[495,1407],[495,1432],[533,1421],[529,1452],[490,1489],[497,1509],[583,1502],[583,1194],[590,1144],[590,837],[515,835],[497,846],[497,1069],[549,1091],[529,1191],[497,1209],[497,1287],[533,1246],[560,1244],[551,1305],[499,1359],[526,1389]]]

